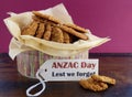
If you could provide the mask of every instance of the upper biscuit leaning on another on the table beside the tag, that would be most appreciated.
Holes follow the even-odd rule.
[[[107,84],[116,85],[116,79],[108,76],[92,75],[91,78],[97,82],[103,82]]]

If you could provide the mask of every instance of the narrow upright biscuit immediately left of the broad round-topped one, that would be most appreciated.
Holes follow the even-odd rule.
[[[46,23],[43,39],[50,41],[51,32],[52,32],[52,26],[50,23]]]

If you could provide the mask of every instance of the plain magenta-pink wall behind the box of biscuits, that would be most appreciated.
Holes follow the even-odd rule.
[[[112,40],[94,53],[131,53],[132,0],[2,0],[0,2],[0,53],[7,53],[11,34],[3,23],[7,12],[42,10],[63,2],[76,24],[95,35]]]

